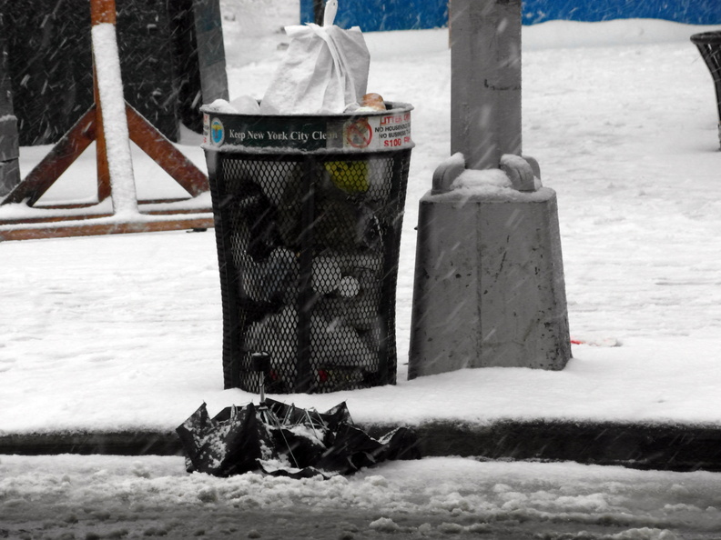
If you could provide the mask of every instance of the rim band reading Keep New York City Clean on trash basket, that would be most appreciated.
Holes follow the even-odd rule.
[[[334,115],[259,115],[203,105],[203,148],[252,154],[358,154],[412,148],[412,105]]]

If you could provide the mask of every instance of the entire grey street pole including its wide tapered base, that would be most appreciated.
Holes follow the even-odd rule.
[[[571,358],[556,195],[522,155],[521,0],[452,0],[452,156],[421,198],[409,378]]]

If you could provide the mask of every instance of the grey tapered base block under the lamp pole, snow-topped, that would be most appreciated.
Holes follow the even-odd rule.
[[[569,358],[555,192],[423,196],[409,378]]]

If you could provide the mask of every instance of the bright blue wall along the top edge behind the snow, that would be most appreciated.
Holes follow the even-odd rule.
[[[448,21],[447,0],[339,0],[336,24],[364,32],[435,28]],[[666,19],[691,25],[721,25],[721,0],[524,0],[523,24],[555,19]],[[300,0],[300,22],[313,21],[313,0]]]

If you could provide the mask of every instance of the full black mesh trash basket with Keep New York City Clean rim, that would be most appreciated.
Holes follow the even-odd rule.
[[[394,384],[411,109],[237,115],[204,107],[226,388]]]

